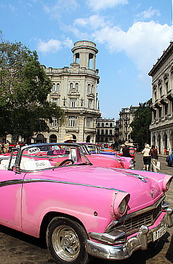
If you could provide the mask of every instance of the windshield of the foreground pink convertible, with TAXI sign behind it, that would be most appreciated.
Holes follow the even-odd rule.
[[[16,156],[14,158],[14,156]],[[15,164],[14,164],[15,163]],[[89,164],[90,161],[75,144],[48,143],[24,146],[12,155],[12,166],[18,170],[44,170],[60,166]]]

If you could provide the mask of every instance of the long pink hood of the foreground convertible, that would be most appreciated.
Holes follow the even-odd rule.
[[[152,173],[153,174],[153,173]],[[155,173],[156,174],[156,173]],[[28,177],[30,177],[30,173]],[[33,176],[33,175],[32,175]],[[138,211],[154,204],[164,195],[160,180],[149,177],[149,173],[141,173],[139,170],[117,168],[100,168],[97,166],[64,166],[39,172],[39,179],[62,181],[66,183],[87,186],[88,188],[107,188],[114,193],[122,191],[130,194],[129,212]],[[100,190],[101,192],[101,190]]]

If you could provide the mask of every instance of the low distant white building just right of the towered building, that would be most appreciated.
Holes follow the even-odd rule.
[[[98,118],[97,124],[97,143],[107,143],[108,146],[114,144],[115,120],[114,118]]]

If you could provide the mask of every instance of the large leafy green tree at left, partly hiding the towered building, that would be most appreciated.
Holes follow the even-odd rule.
[[[48,131],[48,121],[64,122],[64,112],[48,102],[52,82],[39,64],[36,51],[21,42],[0,43],[0,134]]]

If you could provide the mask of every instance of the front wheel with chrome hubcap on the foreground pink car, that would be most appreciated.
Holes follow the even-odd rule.
[[[46,232],[48,250],[58,264],[86,264],[87,234],[84,228],[68,218],[53,218]]]

